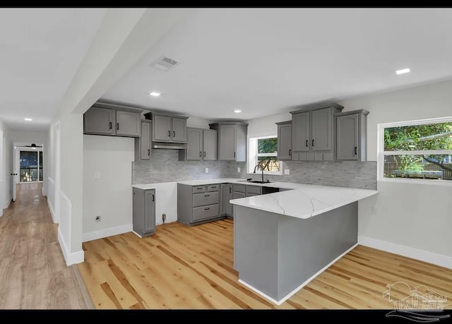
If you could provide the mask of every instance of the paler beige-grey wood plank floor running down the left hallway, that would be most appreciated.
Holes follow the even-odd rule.
[[[66,267],[42,184],[17,188],[16,202],[0,217],[0,308],[89,307],[78,270]]]

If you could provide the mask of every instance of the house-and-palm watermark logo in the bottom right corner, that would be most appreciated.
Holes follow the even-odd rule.
[[[383,298],[393,303],[394,311],[386,317],[406,318],[420,323],[432,323],[451,318],[441,315],[447,304],[447,297],[437,294],[424,285],[410,288],[406,282],[395,282],[386,285]]]

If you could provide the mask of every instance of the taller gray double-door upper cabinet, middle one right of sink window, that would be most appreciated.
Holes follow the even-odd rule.
[[[340,104],[302,109],[292,114],[292,160],[333,161],[335,158],[334,114]]]

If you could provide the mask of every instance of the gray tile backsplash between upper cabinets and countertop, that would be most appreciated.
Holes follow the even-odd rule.
[[[261,174],[246,173],[245,162],[179,161],[178,150],[153,149],[151,160],[132,162],[132,184],[188,181],[213,178],[261,179]],[[206,167],[208,173],[206,173]],[[237,167],[241,172],[237,172]],[[267,176],[270,181],[376,189],[376,162],[283,161],[289,175]]]

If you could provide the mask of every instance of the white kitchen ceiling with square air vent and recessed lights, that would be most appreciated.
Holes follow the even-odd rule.
[[[451,8],[193,9],[102,100],[256,118],[452,78],[451,30]],[[161,55],[181,63],[150,67]]]

